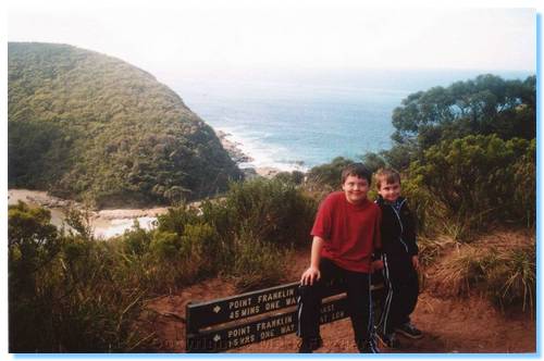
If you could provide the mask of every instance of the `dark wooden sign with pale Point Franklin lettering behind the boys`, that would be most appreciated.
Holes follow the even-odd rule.
[[[221,352],[296,332],[298,286],[296,282],[187,304],[186,351]],[[345,286],[330,284],[325,289],[321,324],[347,318]]]

